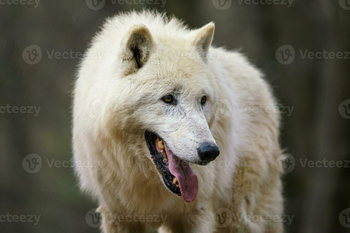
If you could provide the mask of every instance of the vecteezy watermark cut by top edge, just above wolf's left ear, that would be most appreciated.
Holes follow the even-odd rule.
[[[167,0],[111,0],[112,5],[160,5],[164,7]],[[106,0],[85,0],[86,6],[91,10],[100,10],[104,7]]]

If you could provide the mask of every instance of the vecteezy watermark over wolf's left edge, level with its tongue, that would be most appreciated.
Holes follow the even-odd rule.
[[[99,160],[74,160],[73,158],[69,160],[56,160],[56,159],[46,159],[49,168],[97,168],[97,170],[102,169],[101,161]],[[42,168],[42,159],[38,154],[29,154],[22,160],[22,167],[28,173],[37,173]]]

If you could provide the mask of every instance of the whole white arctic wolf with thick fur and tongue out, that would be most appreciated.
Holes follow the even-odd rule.
[[[103,232],[282,232],[279,116],[261,73],[144,10],[106,21],[79,66],[73,152]],[[246,107],[259,107],[248,111]]]

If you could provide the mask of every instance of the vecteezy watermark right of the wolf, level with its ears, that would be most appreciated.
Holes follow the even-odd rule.
[[[325,49],[322,52],[309,50],[299,50],[299,52],[302,59],[350,59],[350,52],[333,52]],[[286,44],[276,50],[275,56],[279,63],[288,65],[294,61],[296,53],[292,45]]]

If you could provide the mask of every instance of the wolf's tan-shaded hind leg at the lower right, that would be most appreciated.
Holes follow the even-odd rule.
[[[279,153],[276,154],[277,158]],[[264,160],[256,158],[258,156],[247,156],[237,167],[233,182],[231,233],[282,233],[282,222],[270,219],[271,216],[280,218],[283,213],[280,174],[275,168],[275,158],[267,160],[267,166]],[[264,167],[269,169],[264,171]],[[246,221],[244,216],[256,220]]]

